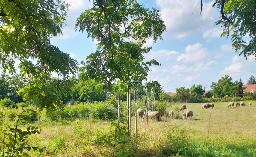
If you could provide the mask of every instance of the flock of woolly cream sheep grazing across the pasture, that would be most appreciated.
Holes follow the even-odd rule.
[[[236,107],[238,107],[240,105],[245,106],[245,103],[244,102],[230,102],[230,103],[228,103],[228,107],[233,108],[234,105],[236,105]],[[252,106],[252,103],[249,103],[249,106]],[[205,104],[202,105],[202,109],[208,109],[208,108],[211,108],[211,107],[212,107],[212,109],[214,108],[214,103],[205,103]],[[183,119],[186,119],[186,118],[191,119],[192,116],[193,116],[193,111],[187,109],[187,106],[185,104],[181,105],[180,111],[183,111],[183,114],[182,114]],[[138,109],[136,111],[136,113],[137,113],[138,118],[140,118],[140,117],[142,118],[143,114],[144,114],[144,111],[143,111],[143,109]],[[172,111],[172,110],[169,111],[169,117],[173,118],[173,116],[174,116],[174,111]],[[160,119],[159,118],[159,112],[157,112],[157,111],[152,112],[152,111],[149,110],[148,111],[148,117],[151,118],[151,120],[155,119],[155,121]]]

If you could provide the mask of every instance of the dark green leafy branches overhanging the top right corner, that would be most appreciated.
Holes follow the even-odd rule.
[[[221,13],[222,19],[216,22],[216,25],[222,25],[221,37],[231,36],[232,46],[239,56],[247,59],[254,55],[256,59],[255,0],[215,0],[213,6],[217,6]]]

